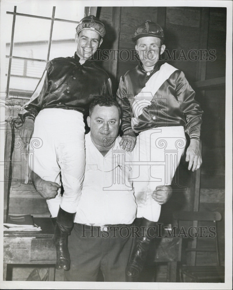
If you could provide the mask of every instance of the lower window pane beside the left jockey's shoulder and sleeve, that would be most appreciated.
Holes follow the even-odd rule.
[[[12,59],[9,95],[31,97],[43,71],[45,62]]]

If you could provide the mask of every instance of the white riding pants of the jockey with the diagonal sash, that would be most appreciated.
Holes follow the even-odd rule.
[[[133,186],[137,218],[157,222],[161,205],[152,198],[157,186],[169,185],[186,146],[183,126],[141,132],[133,149]]]

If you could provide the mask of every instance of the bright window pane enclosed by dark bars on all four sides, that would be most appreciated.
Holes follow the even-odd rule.
[[[16,15],[12,55],[46,60],[50,26],[50,20]]]

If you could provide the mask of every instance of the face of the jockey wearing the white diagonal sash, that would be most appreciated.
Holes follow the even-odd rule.
[[[137,40],[135,49],[142,61],[145,70],[152,70],[159,60],[159,55],[164,52],[165,45],[160,48],[160,38],[154,36],[141,37]]]

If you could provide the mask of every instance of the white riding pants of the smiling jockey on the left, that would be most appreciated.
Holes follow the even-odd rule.
[[[85,171],[85,124],[82,113],[75,110],[48,108],[36,116],[30,142],[30,168],[46,181],[56,182],[60,189],[47,200],[52,217],[59,206],[75,213],[81,195]],[[37,140],[37,142],[36,142]]]

